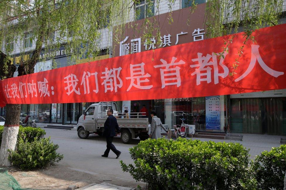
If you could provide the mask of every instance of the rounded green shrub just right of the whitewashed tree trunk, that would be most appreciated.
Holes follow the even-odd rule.
[[[13,166],[22,170],[44,168],[63,159],[63,155],[56,152],[58,148],[57,144],[50,142],[50,137],[32,142],[19,139],[17,150],[8,150],[8,159]]]

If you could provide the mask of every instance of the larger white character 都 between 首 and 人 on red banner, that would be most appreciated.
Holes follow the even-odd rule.
[[[222,78],[227,77],[229,73],[229,69],[227,68],[227,66],[222,64],[226,55],[227,53],[224,52],[223,55],[220,57],[220,61],[219,61],[219,65],[224,70],[223,73],[219,73],[218,71],[216,53],[212,53],[212,55],[207,54],[207,56],[202,56],[202,53],[198,53],[198,58],[192,59],[193,62],[198,61],[198,64],[190,65],[191,68],[199,67],[198,69],[195,69],[195,72],[191,74],[192,76],[197,75],[197,85],[199,85],[201,81],[207,81],[207,83],[210,83],[212,81],[212,78],[211,78],[212,68],[209,67],[208,65],[212,65],[214,68],[214,84],[219,83],[218,77],[222,77]],[[210,61],[210,58],[212,58],[212,61]],[[205,66],[208,66],[208,67],[205,68]],[[206,78],[202,78],[202,76],[206,76]]]

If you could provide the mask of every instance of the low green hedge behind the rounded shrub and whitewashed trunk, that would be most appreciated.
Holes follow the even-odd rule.
[[[0,126],[0,146],[2,142],[2,134],[3,134],[4,126]],[[34,127],[22,127],[20,125],[19,127],[19,133],[17,137],[17,141],[19,141],[20,138],[27,140],[28,142],[34,141],[35,138],[41,139],[45,136],[46,132],[44,129],[41,128],[34,128]]]

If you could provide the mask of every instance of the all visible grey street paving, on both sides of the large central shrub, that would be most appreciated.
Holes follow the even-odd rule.
[[[122,171],[120,160],[125,163],[133,164],[130,158],[129,148],[139,143],[139,139],[132,139],[130,144],[123,144],[120,137],[114,138],[114,145],[122,153],[119,159],[115,159],[115,154],[110,151],[108,158],[101,155],[106,149],[104,137],[91,134],[88,139],[80,139],[75,130],[47,129],[46,136],[51,136],[52,141],[59,145],[58,153],[64,154],[64,159],[59,165],[73,168],[81,172],[86,172],[97,176],[97,179],[111,180],[112,184],[136,187],[138,184],[142,187],[144,183],[136,182],[129,173]],[[280,136],[243,134],[243,141],[225,140],[226,142],[241,143],[246,148],[250,148],[251,158],[260,154],[261,151],[269,151],[271,147],[280,146]],[[199,139],[199,138],[194,138]],[[212,140],[215,142],[224,141],[216,139],[200,139],[202,141]],[[72,171],[72,170],[71,170]]]

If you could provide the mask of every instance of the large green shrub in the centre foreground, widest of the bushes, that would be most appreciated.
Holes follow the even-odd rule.
[[[255,189],[249,150],[239,143],[147,139],[130,148],[122,170],[150,189]]]

